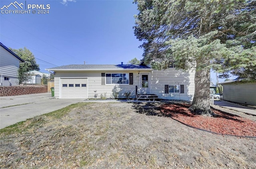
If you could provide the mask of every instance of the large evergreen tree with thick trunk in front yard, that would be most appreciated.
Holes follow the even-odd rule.
[[[256,65],[255,0],[135,0],[134,33],[155,69],[195,69],[190,110],[212,116],[210,69],[252,78]]]

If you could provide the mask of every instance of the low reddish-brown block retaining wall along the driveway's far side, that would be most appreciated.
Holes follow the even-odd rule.
[[[47,93],[47,86],[0,86],[0,96]]]

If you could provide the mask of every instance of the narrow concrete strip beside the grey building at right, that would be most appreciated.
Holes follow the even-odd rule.
[[[254,110],[252,108],[248,108],[246,106],[240,106],[238,104],[234,104],[234,103],[230,103],[230,102],[226,102],[226,101],[214,101],[214,105],[218,105],[220,107],[224,107],[224,108],[228,108],[228,109],[232,109],[232,110],[236,110],[239,112],[243,112],[246,114],[252,114],[252,115],[256,116],[256,110]]]

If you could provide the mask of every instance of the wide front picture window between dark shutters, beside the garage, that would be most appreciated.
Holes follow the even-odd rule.
[[[129,84],[129,73],[106,73],[106,84]]]

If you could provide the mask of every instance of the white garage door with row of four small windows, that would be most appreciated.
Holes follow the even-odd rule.
[[[88,98],[88,79],[61,79],[61,98]]]

